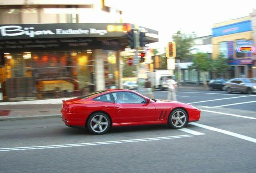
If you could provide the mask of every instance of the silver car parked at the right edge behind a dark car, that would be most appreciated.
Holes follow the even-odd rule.
[[[226,82],[227,93],[256,93],[256,81],[250,78],[233,78]]]

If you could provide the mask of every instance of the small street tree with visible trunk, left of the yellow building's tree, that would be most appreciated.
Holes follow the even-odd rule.
[[[211,58],[208,58],[207,54],[198,52],[194,55],[193,65],[190,66],[192,69],[196,69],[202,72],[204,87],[207,87],[206,83],[206,72],[211,71]]]

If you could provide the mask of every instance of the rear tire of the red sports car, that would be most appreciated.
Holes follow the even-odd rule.
[[[97,119],[98,117],[102,117],[103,121],[102,120],[99,121],[99,119]],[[97,120],[97,123],[94,122],[93,119]],[[103,129],[103,131],[101,131],[101,129],[99,128],[99,125],[97,125],[98,123],[101,126],[101,129]],[[103,125],[103,123],[106,125]],[[95,125],[97,125],[97,127],[93,129]],[[105,113],[93,113],[87,120],[87,129],[95,135],[102,135],[106,133],[109,130],[110,126],[111,126],[111,121]]]

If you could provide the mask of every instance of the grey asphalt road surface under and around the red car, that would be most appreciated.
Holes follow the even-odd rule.
[[[254,173],[256,95],[225,94],[180,90],[178,101],[202,107],[200,121],[182,130],[153,125],[91,135],[61,118],[0,121],[0,172]]]

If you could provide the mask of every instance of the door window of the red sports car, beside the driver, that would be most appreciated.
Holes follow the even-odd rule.
[[[115,103],[146,103],[142,97],[130,92],[112,93]]]

